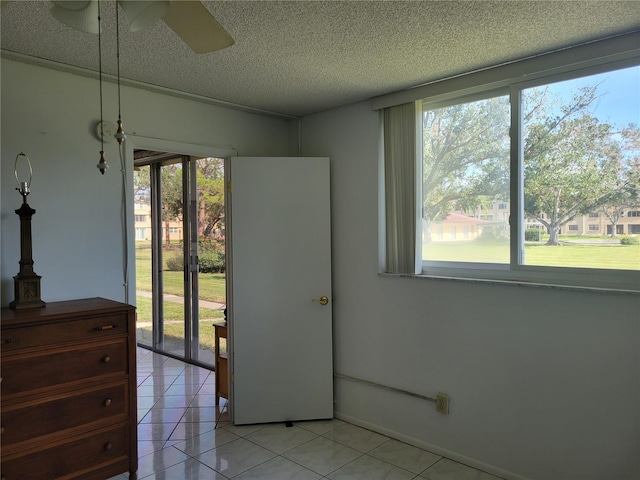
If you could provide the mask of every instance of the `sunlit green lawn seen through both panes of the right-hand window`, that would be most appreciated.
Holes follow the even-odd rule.
[[[572,242],[575,238],[561,238]],[[583,239],[584,240],[584,239]],[[565,243],[550,246],[526,243],[526,265],[640,270],[640,245]],[[458,262],[509,263],[505,243],[434,242],[423,248],[423,258]]]

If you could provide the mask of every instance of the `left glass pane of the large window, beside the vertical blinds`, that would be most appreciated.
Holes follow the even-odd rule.
[[[422,259],[509,263],[509,97],[422,112]]]

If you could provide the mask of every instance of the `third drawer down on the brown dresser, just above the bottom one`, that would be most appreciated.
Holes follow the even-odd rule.
[[[20,442],[94,422],[117,423],[129,415],[126,380],[2,407],[2,451]]]

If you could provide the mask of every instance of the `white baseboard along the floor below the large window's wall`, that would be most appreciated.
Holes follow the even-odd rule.
[[[407,443],[409,445],[422,448],[423,450],[428,450],[431,453],[435,453],[436,455],[446,457],[455,462],[462,463],[464,465],[468,465],[473,468],[477,468],[478,470],[482,470],[483,472],[490,473],[491,475],[495,475],[496,477],[500,477],[505,480],[531,480],[528,477],[523,477],[522,475],[518,475],[516,473],[503,470],[502,468],[498,468],[494,465],[489,465],[487,463],[480,462],[476,459],[465,457],[464,455],[460,455],[459,453],[452,452],[450,450],[444,449],[437,445],[433,445],[431,443],[423,442],[422,440],[418,440],[417,438],[404,435],[402,433],[390,430],[385,427],[381,427],[380,425],[375,425],[369,422],[362,421],[361,419],[352,417],[350,415],[345,415],[343,413],[336,411],[334,412],[334,417],[340,420],[344,420],[345,422],[352,423],[353,425],[358,425],[362,428],[366,428],[367,430],[371,430],[371,431],[380,433],[382,435],[386,435],[387,437],[400,440],[401,442]]]

